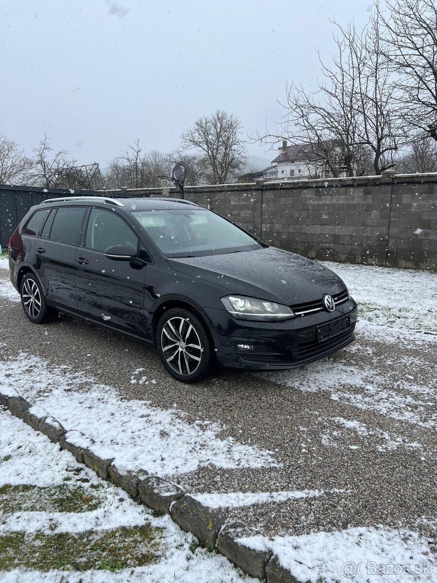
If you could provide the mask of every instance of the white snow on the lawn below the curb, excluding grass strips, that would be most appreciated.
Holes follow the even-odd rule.
[[[98,538],[101,533],[112,528],[150,524],[160,529],[156,538],[155,564],[145,567],[129,567],[112,573],[99,571],[41,571],[16,568],[1,571],[2,583],[257,583],[231,565],[223,556],[198,548],[192,550],[196,539],[172,522],[168,515],[154,517],[152,511],[131,500],[126,493],[100,480],[94,472],[76,462],[71,454],[59,451],[59,445],[52,444],[42,434],[37,434],[9,411],[0,411],[0,484],[26,484],[34,486],[56,486],[75,482],[65,482],[65,477],[74,479],[71,473],[79,469],[80,477],[89,479],[81,483],[84,487],[99,486],[91,490],[101,500],[97,510],[89,512],[29,512],[18,511],[2,514],[0,534],[10,532],[43,533],[53,535],[60,532],[80,533],[93,531]],[[5,457],[8,459],[5,461]],[[82,471],[80,471],[82,468]],[[37,547],[36,547],[37,552]],[[259,582],[258,582],[259,583]]]

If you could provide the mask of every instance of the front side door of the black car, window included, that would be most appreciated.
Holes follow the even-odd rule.
[[[144,317],[146,264],[114,261],[104,255],[112,245],[137,250],[139,240],[113,210],[91,208],[84,245],[76,252],[79,311],[98,322],[136,336],[148,336]]]

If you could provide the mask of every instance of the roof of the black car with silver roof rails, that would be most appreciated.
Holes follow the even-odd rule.
[[[180,209],[189,206],[198,206],[195,202],[181,200],[178,198],[109,198],[108,196],[65,196],[62,198],[49,198],[41,205],[69,206],[77,205],[102,205],[109,207],[124,208],[125,210],[158,210],[158,209]]]

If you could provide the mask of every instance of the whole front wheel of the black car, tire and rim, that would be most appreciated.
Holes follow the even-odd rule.
[[[205,324],[185,308],[161,316],[156,346],[164,368],[181,382],[200,382],[212,375],[215,354]]]

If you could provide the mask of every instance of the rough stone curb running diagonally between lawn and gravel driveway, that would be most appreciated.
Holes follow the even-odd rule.
[[[134,500],[161,512],[170,514],[172,520],[185,532],[195,536],[202,546],[217,550],[246,574],[267,583],[299,583],[280,562],[271,549],[255,550],[239,539],[260,534],[242,522],[227,521],[225,515],[209,508],[189,496],[177,484],[159,476],[150,476],[147,470],[121,472],[111,459],[101,459],[90,451],[69,440],[77,430],[65,429],[54,417],[37,417],[29,411],[32,405],[21,396],[3,395],[0,405],[32,429],[45,434],[52,442],[70,452],[79,463],[84,463],[103,480],[121,487]],[[88,438],[89,440],[89,438]],[[92,442],[92,440],[91,440]],[[323,582],[322,582],[323,583]]]

